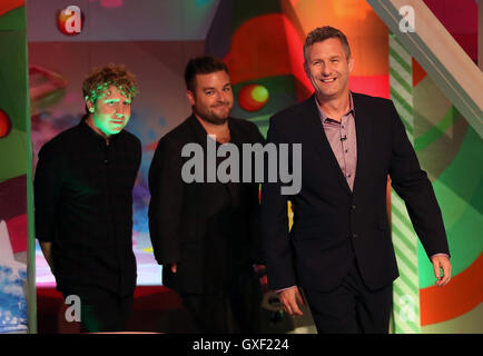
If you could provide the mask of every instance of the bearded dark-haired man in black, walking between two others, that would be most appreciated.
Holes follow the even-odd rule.
[[[208,157],[207,146],[229,142],[241,148],[262,142],[263,137],[254,123],[229,117],[234,96],[224,62],[213,57],[191,59],[185,80],[193,115],[159,140],[149,170],[155,257],[164,266],[164,284],[179,293],[199,332],[257,333],[258,184],[207,179],[208,161],[220,164]],[[200,169],[195,172],[200,179],[187,182],[193,179],[183,167],[196,157],[188,159],[183,152],[194,144],[204,152],[195,168]]]

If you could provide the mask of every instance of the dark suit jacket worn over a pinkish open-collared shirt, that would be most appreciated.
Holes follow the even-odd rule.
[[[262,189],[264,253],[272,289],[293,285],[328,291],[354,258],[366,286],[398,276],[386,210],[387,176],[404,199],[428,256],[448,254],[433,187],[421,169],[392,101],[353,93],[357,135],[354,189],[325,136],[314,96],[270,118],[267,142],[302,142],[302,189],[280,196],[279,184]],[[286,200],[294,205],[288,233]]]

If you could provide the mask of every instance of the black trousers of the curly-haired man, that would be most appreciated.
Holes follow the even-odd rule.
[[[132,309],[134,294],[119,295],[92,286],[70,286],[62,288],[66,299],[78,296],[82,332],[124,332]]]

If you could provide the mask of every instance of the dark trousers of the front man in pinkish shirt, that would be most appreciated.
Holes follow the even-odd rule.
[[[319,334],[387,334],[392,285],[369,290],[354,261],[343,283],[329,293],[304,289]]]

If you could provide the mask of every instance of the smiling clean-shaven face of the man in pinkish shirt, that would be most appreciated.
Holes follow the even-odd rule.
[[[331,100],[348,95],[348,75],[354,69],[354,59],[347,58],[338,38],[308,47],[304,69],[319,99]]]

